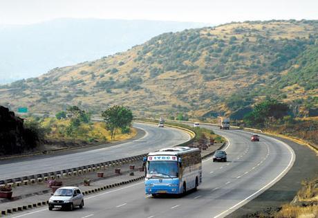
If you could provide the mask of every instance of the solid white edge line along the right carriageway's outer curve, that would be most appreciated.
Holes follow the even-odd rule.
[[[265,136],[268,137],[268,136]],[[268,137],[271,138],[271,137]],[[251,194],[250,196],[246,197],[245,199],[243,199],[242,201],[236,203],[234,206],[232,206],[231,208],[224,210],[223,212],[221,212],[220,214],[216,215],[214,218],[218,218],[218,217],[225,217],[225,214],[229,215],[230,212],[233,212],[234,210],[240,208],[241,206],[243,206],[245,203],[247,203],[248,201],[250,201],[252,199],[252,197],[254,197],[256,194],[259,194],[260,192],[263,192],[266,190],[266,188],[270,188],[271,185],[274,185],[274,183],[276,183],[277,181],[279,181],[279,179],[281,179],[287,172],[288,170],[290,170],[290,168],[292,167],[292,165],[294,165],[294,160],[295,160],[295,154],[294,154],[294,150],[287,145],[286,143],[282,142],[281,140],[278,140],[276,138],[271,138],[276,140],[277,142],[283,144],[285,147],[287,147],[287,149],[289,150],[290,154],[292,154],[291,158],[290,158],[290,162],[288,163],[288,165],[286,166],[286,168],[278,175],[276,176],[272,181],[270,181],[268,184],[264,185],[261,189],[257,190],[256,192],[254,192],[253,194]]]

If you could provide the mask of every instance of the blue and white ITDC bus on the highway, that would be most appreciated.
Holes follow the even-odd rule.
[[[202,182],[202,159],[198,148],[170,147],[151,152],[146,163],[145,191],[158,194],[185,194]]]

